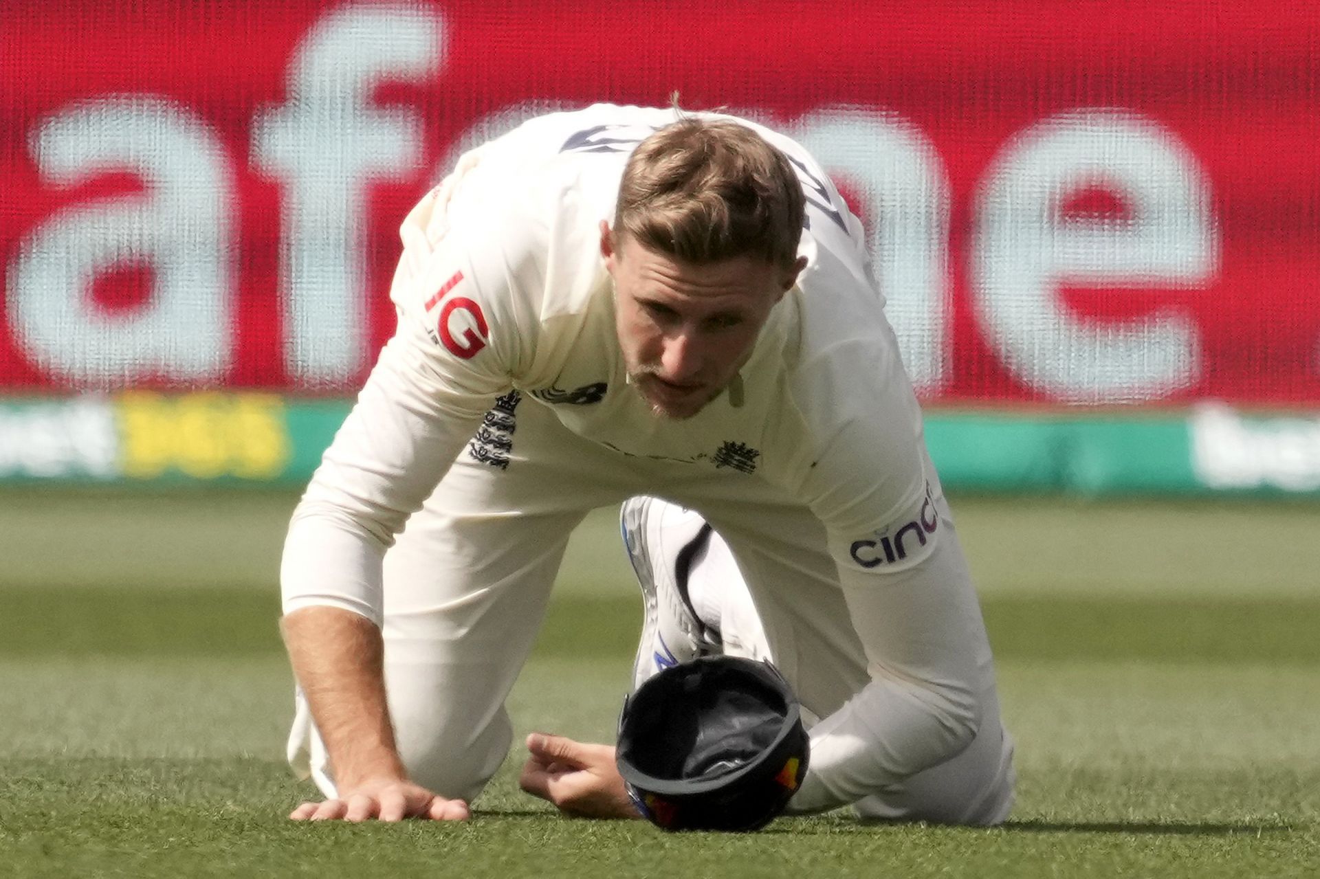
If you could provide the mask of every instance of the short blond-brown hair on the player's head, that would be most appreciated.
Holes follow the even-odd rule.
[[[797,259],[805,197],[788,157],[726,119],[682,117],[634,150],[619,185],[616,232],[689,263]]]

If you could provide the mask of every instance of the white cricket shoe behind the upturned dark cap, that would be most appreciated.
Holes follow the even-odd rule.
[[[642,586],[642,641],[632,688],[656,672],[722,652],[719,632],[697,616],[688,571],[706,550],[710,525],[698,513],[659,498],[636,496],[619,511],[623,545]]]

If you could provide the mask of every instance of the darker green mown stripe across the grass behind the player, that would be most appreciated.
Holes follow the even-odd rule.
[[[273,591],[7,587],[0,601],[0,656],[282,649]],[[1320,597],[989,594],[982,606],[1001,659],[1320,664]],[[628,657],[639,626],[635,595],[564,594],[552,602],[537,653]]]

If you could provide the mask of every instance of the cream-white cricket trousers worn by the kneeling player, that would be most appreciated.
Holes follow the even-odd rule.
[[[483,462],[459,454],[385,553],[385,690],[399,752],[414,781],[469,801],[486,787],[512,744],[504,702],[540,628],[569,535],[591,509],[636,494],[697,509],[714,525],[727,554],[708,553],[710,573],[741,571],[729,578],[730,607],[742,607],[738,614],[754,607],[758,626],[747,628],[755,635],[744,637],[762,643],[746,651],[770,656],[808,711],[826,717],[866,684],[866,659],[824,528],[804,505],[731,469],[711,472],[620,455],[573,434],[535,400],[523,399],[515,420],[512,449],[495,458],[504,466],[494,466],[490,455]],[[590,637],[590,627],[582,636]],[[867,797],[858,810],[1002,821],[1012,800],[1011,754],[991,682],[972,746]],[[335,796],[301,693],[288,758],[296,773]]]

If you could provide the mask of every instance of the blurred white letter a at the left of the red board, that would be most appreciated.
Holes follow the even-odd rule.
[[[218,139],[187,110],[136,95],[83,102],[46,119],[32,152],[55,186],[129,172],[147,193],[58,211],[20,244],[8,286],[26,356],[83,387],[220,379],[232,348],[236,211]],[[135,263],[153,272],[148,301],[127,313],[98,309],[90,296],[96,277]]]

